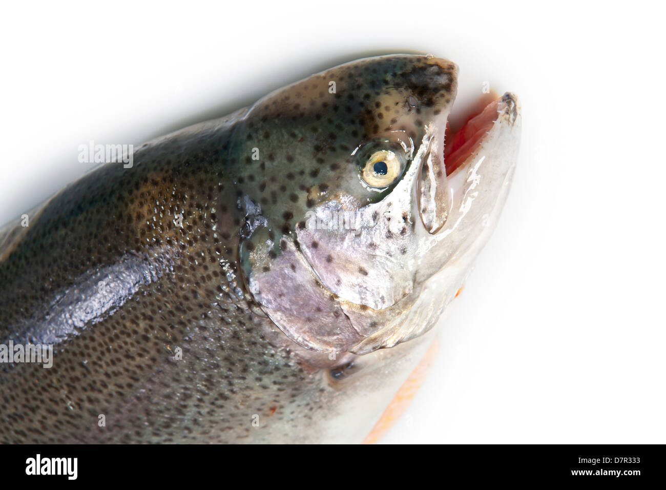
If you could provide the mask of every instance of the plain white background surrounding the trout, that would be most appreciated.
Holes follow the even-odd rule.
[[[665,443],[663,11],[639,2],[113,1],[3,7],[0,223],[135,143],[366,55],[519,95],[498,229],[385,442]]]

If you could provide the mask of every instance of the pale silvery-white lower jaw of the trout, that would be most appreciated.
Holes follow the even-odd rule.
[[[509,194],[517,164],[521,113],[517,97],[506,93],[489,104],[496,117],[464,161],[448,176],[450,213],[442,229],[422,235],[414,293],[396,307],[376,312],[391,318],[382,329],[350,349],[356,354],[394,347],[424,335],[464,287],[488,243]],[[392,312],[393,314],[391,314]],[[354,319],[352,311],[346,311]]]

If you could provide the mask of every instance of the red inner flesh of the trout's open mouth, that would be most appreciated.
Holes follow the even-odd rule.
[[[446,122],[444,133],[446,175],[451,175],[476,151],[498,118],[500,99],[498,93],[491,91],[474,104],[462,127],[455,127]]]

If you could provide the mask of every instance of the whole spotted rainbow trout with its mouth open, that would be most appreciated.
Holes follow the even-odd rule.
[[[516,97],[450,128],[457,73],[430,55],[340,65],[1,229],[0,441],[366,439],[515,167]]]

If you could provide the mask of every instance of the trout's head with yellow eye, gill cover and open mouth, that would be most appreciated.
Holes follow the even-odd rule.
[[[420,335],[470,271],[520,116],[507,93],[447,133],[457,73],[430,55],[363,59],[264,97],[238,125],[244,284],[302,347],[362,354]]]

